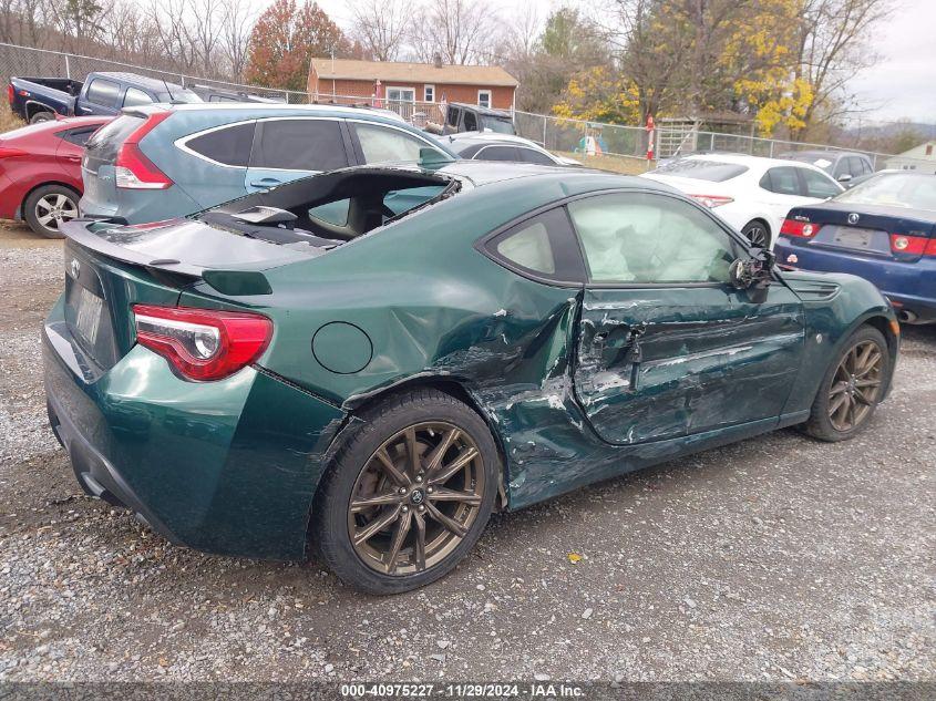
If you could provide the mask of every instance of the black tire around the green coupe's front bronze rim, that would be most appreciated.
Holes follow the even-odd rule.
[[[855,349],[866,347],[867,343],[874,344],[881,355],[881,367],[875,371],[875,378],[880,380],[880,384],[875,388],[874,396],[871,398],[868,403],[860,402],[866,406],[860,421],[851,427],[836,426],[830,415],[830,411],[832,410],[831,402],[835,401],[832,399],[833,382],[841,384],[842,380],[836,380],[836,377],[842,377],[839,373],[843,362]],[[816,392],[815,400],[813,400],[810,417],[802,426],[803,430],[809,435],[830,443],[845,441],[857,435],[867,427],[881,400],[887,395],[892,373],[891,353],[887,350],[887,341],[884,339],[884,336],[873,327],[861,327],[848,337],[848,340],[845,341],[825,371],[825,375],[819,385],[819,392]],[[854,375],[851,375],[851,381],[854,384]],[[854,388],[852,389],[854,390]]]

